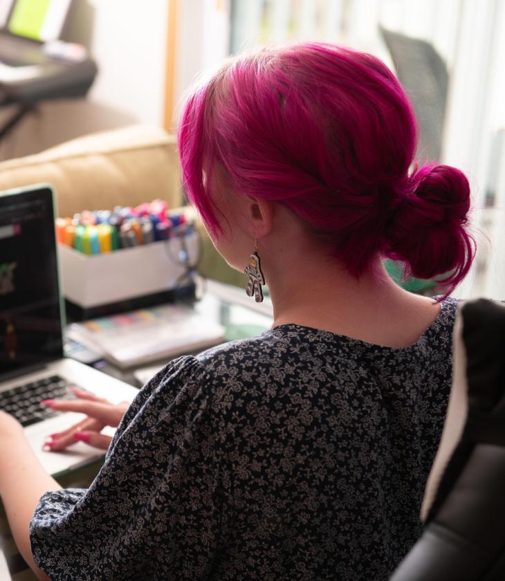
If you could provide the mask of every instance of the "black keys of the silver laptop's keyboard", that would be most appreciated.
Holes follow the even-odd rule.
[[[27,426],[57,415],[50,407],[40,405],[46,399],[75,399],[73,383],[59,376],[50,376],[0,392],[0,409],[12,414]]]

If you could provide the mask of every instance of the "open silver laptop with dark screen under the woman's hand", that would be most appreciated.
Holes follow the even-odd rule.
[[[54,207],[49,185],[0,192],[0,409],[21,421],[42,465],[57,476],[104,452],[84,443],[64,452],[43,451],[48,434],[83,416],[58,414],[39,402],[75,397],[73,386],[113,403],[131,401],[138,390],[64,357]]]

